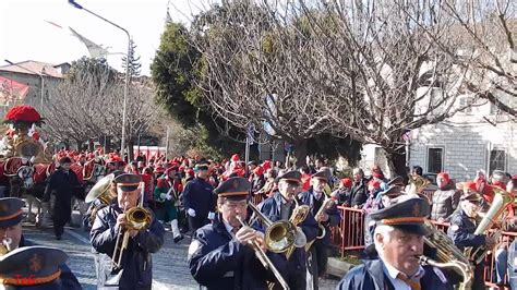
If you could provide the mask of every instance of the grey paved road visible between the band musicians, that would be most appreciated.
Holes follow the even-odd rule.
[[[61,241],[57,241],[51,229],[36,229],[24,223],[24,235],[43,245],[62,249],[70,256],[67,264],[77,276],[84,289],[96,289],[94,254],[91,252],[88,234],[82,229],[65,228]],[[166,232],[164,247],[153,255],[153,289],[199,289],[187,267],[187,251],[190,239],[178,244],[172,233]],[[321,289],[334,289],[336,280],[323,280]]]

